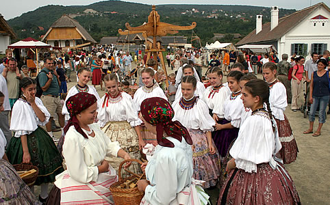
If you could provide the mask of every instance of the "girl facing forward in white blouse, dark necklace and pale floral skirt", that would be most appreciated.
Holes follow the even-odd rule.
[[[183,77],[180,84],[183,97],[172,104],[173,120],[185,126],[192,137],[192,177],[205,181],[203,188],[210,188],[216,185],[220,176],[220,156],[211,134],[216,123],[208,114],[206,103],[194,96],[197,82],[194,76]]]

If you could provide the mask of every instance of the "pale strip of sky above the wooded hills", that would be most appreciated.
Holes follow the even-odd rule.
[[[129,0],[126,0],[129,1]],[[89,5],[91,3],[99,2],[96,0],[12,0],[12,1],[3,1],[1,2],[1,8],[5,10],[0,10],[0,14],[8,20],[16,16],[21,16],[21,14],[29,11],[36,10],[37,8],[44,5]],[[138,1],[129,1],[135,3],[144,3],[144,4],[177,4],[177,0],[138,0]],[[328,7],[330,7],[330,0],[183,0],[179,1],[179,4],[218,4],[218,5],[259,5],[265,7],[271,7],[277,5],[279,8],[288,8],[301,10],[303,8],[309,7],[316,3],[324,2]]]

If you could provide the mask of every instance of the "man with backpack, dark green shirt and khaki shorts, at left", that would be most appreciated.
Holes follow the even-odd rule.
[[[42,96],[40,99],[51,114],[51,118],[46,124],[46,129],[47,133],[54,139],[53,132],[51,131],[51,121],[55,113],[58,114],[58,123],[62,131],[64,127],[64,115],[62,115],[62,103],[60,102],[60,81],[51,57],[44,59],[44,66],[45,68],[42,68],[37,77],[37,92],[41,88]]]

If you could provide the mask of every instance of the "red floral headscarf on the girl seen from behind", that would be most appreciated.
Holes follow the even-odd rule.
[[[157,142],[160,146],[174,147],[171,141],[163,137],[164,132],[169,137],[173,137],[179,141],[183,137],[188,144],[192,144],[192,139],[187,129],[179,121],[172,121],[174,111],[167,100],[158,97],[147,98],[141,104],[141,113],[144,120],[156,126]]]

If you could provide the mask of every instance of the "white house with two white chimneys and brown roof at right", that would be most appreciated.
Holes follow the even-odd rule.
[[[262,25],[262,15],[257,15],[256,29],[236,45],[272,44],[279,53],[289,56],[322,54],[330,45],[330,9],[325,3],[279,18],[279,8],[271,9],[270,22]]]

